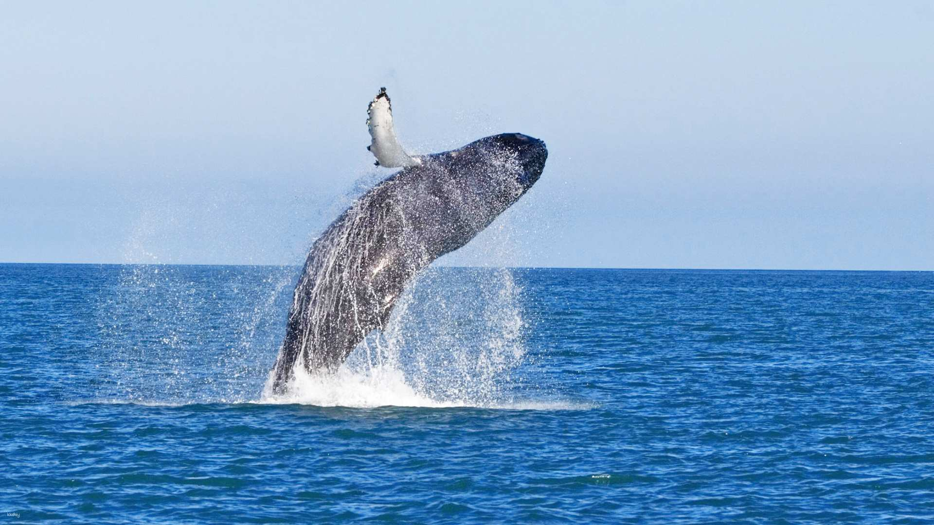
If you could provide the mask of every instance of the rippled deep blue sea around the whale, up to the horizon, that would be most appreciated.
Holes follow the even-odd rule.
[[[934,520],[932,273],[432,269],[271,398],[295,274],[0,265],[0,516]]]

